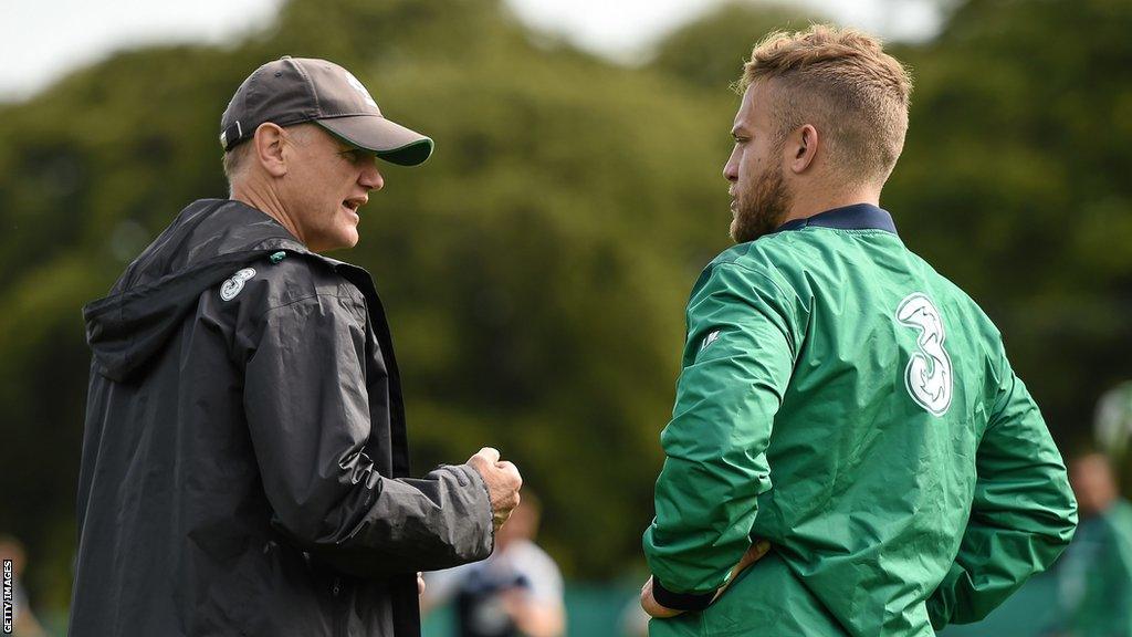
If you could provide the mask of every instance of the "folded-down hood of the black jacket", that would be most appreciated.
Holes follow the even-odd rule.
[[[186,207],[110,295],[83,308],[100,374],[125,381],[158,354],[203,291],[267,254],[311,254],[267,214],[231,199]]]

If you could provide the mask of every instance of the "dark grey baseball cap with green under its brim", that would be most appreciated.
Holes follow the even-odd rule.
[[[350,71],[334,62],[285,56],[257,68],[232,95],[220,121],[220,143],[231,151],[269,121],[314,121],[343,142],[401,165],[432,154],[432,139],[391,121]]]

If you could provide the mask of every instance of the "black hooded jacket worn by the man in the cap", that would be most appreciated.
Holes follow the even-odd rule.
[[[408,477],[365,270],[204,199],[84,314],[71,637],[417,636],[415,571],[491,552],[478,472]]]

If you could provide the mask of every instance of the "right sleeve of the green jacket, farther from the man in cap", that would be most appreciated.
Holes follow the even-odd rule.
[[[976,453],[975,498],[959,553],[927,601],[932,626],[978,621],[1069,545],[1077,501],[1041,413],[1002,359]]]

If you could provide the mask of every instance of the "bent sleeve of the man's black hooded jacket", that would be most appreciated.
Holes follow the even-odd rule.
[[[348,297],[319,295],[258,321],[243,404],[272,525],[352,575],[483,559],[494,535],[478,472],[445,466],[394,479],[375,466],[371,455],[388,450],[370,445],[365,312]]]

